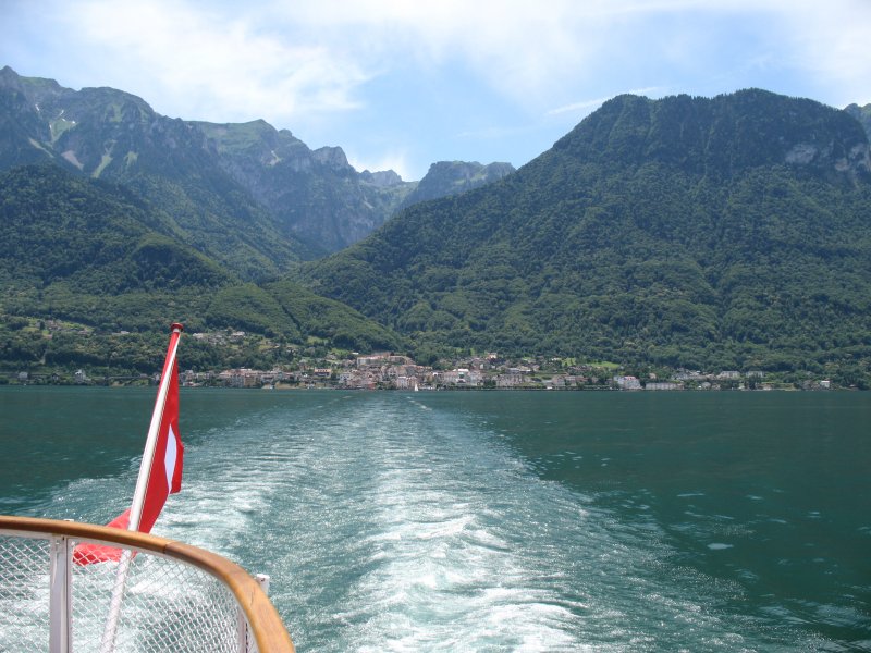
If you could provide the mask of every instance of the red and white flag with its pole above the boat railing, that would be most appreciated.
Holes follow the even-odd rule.
[[[182,489],[184,446],[179,434],[179,364],[175,358],[182,330],[181,324],[172,325],[133,505],[107,526],[149,533],[167,497]],[[77,565],[120,558],[120,549],[102,544],[78,544],[73,551],[73,562]]]

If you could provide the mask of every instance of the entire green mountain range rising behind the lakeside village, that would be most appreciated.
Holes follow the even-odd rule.
[[[172,120],[7,67],[0,359],[142,370],[185,320],[259,337],[198,340],[192,367],[498,350],[867,383],[869,115],[759,89],[619,96],[517,171],[408,183],[262,121]]]

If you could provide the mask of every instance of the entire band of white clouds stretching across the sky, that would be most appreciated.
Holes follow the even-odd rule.
[[[206,120],[316,120],[361,108],[377,76],[444,66],[531,113],[582,110],[567,94],[618,91],[619,79],[616,88],[603,79],[646,63],[638,58],[691,65],[704,44],[692,32],[699,16],[771,25],[772,47],[787,52],[769,63],[805,71],[833,94],[839,86],[854,97],[871,78],[868,0],[87,0],[48,12],[62,12],[71,48],[98,48],[90,63],[113,73],[106,84],[130,88],[116,79],[132,74],[140,88],[132,90],[158,109],[164,101],[164,112]],[[741,65],[750,63],[733,67]]]

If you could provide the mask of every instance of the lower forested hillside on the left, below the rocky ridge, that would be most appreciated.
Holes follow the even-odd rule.
[[[245,282],[185,245],[128,188],[57,165],[0,173],[0,368],[159,369],[165,329],[243,330],[247,350],[193,338],[196,369],[275,364],[312,342],[397,348],[400,338],[291,282]]]

